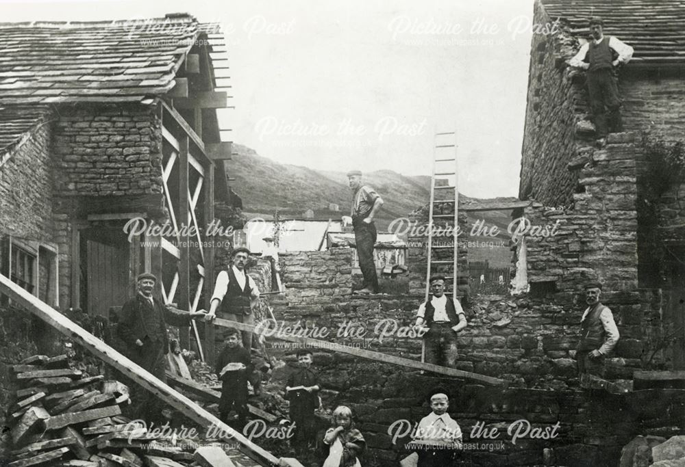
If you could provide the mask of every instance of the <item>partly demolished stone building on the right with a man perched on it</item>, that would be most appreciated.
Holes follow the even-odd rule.
[[[635,49],[619,76],[625,133],[610,135],[602,149],[593,146],[585,74],[568,66],[588,38],[591,15],[603,17],[605,36]],[[685,368],[685,177],[677,146],[669,146],[685,124],[684,22],[672,1],[534,6],[534,24],[557,27],[532,38],[519,197],[538,204],[516,215],[559,227],[551,237],[528,236],[519,258],[526,258],[530,295],[560,307],[543,348],[570,348],[582,283],[603,282],[603,302],[622,335],[616,376],[655,364]],[[669,162],[655,147],[676,157]],[[682,150],[679,157],[682,166]]]

